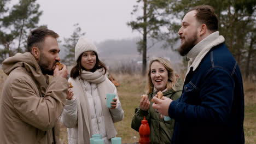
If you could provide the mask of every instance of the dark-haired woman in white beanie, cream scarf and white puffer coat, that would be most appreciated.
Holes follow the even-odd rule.
[[[98,58],[91,40],[81,37],[75,45],[75,61],[71,70],[73,88],[67,93],[61,123],[67,127],[68,143],[90,143],[92,135],[101,134],[104,143],[117,135],[115,122],[122,121],[124,111],[117,88],[107,78],[107,68]],[[112,108],[106,106],[106,94],[114,93]]]

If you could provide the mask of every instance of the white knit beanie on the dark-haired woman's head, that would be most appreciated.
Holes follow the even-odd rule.
[[[92,41],[88,38],[80,37],[77,41],[77,45],[75,45],[75,62],[85,51],[94,51],[98,55],[97,47],[92,44]]]

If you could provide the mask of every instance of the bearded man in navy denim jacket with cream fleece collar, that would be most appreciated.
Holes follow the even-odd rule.
[[[245,143],[242,76],[214,9],[189,10],[178,34],[178,51],[190,59],[181,98],[153,98],[154,109],[175,119],[171,143]]]

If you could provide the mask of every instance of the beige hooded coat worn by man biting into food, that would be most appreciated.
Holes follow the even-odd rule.
[[[5,80],[0,103],[1,143],[60,143],[59,117],[68,82],[55,76],[49,83],[30,53],[3,62]]]

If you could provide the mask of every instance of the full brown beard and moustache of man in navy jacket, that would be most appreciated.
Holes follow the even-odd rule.
[[[182,38],[182,37],[180,36],[180,38]],[[196,33],[191,38],[192,39],[188,39],[187,41],[185,41],[185,39],[184,39],[183,44],[181,44],[181,46],[179,46],[179,49],[178,49],[179,55],[181,55],[181,56],[187,55],[187,53],[196,45],[195,44],[197,41]]]

